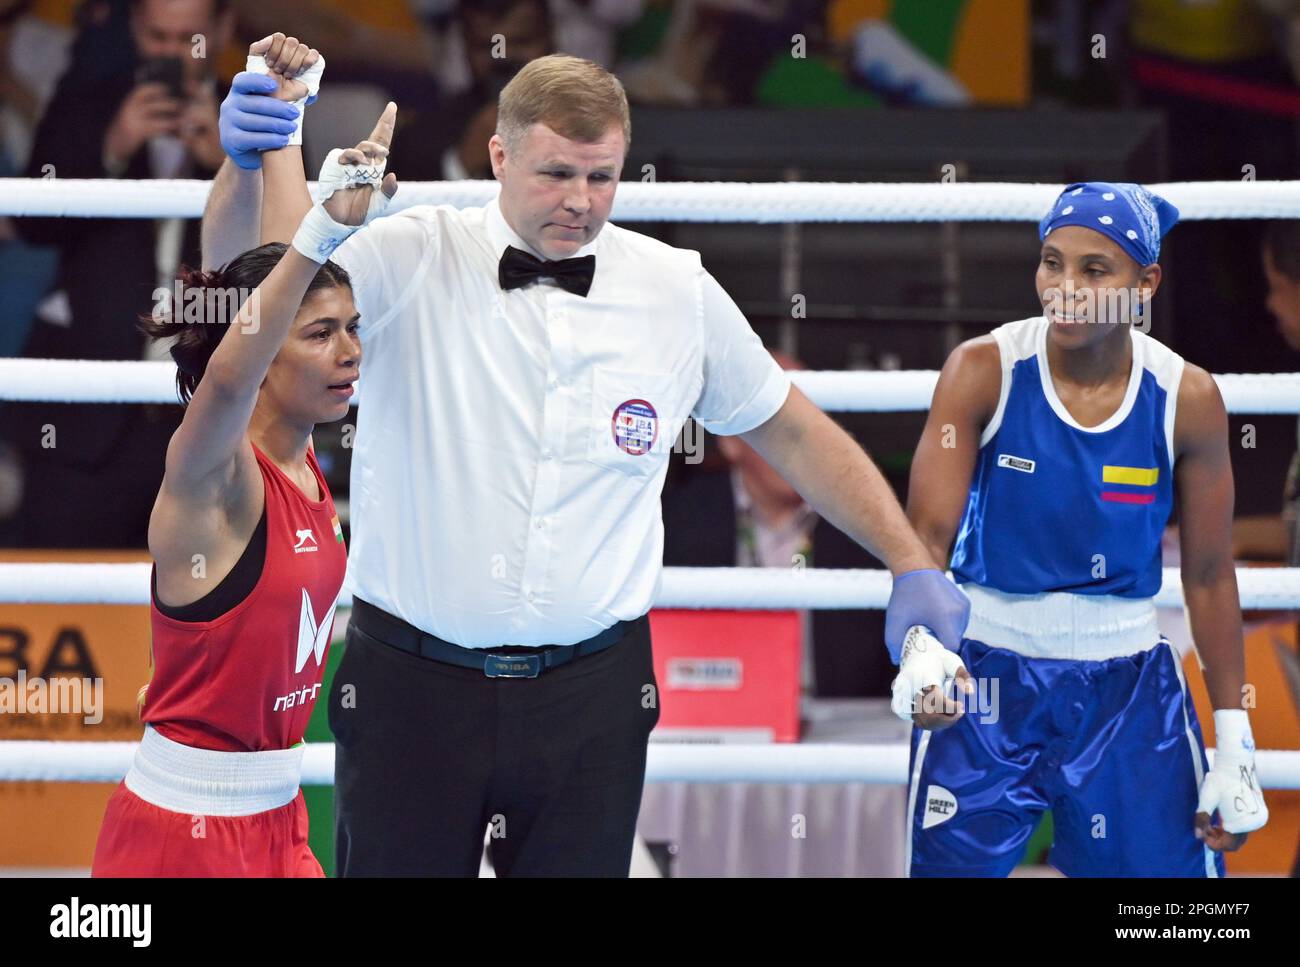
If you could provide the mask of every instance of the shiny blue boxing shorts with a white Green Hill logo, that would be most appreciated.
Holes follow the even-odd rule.
[[[971,638],[959,654],[966,714],[913,729],[909,876],[1006,876],[1048,808],[1066,876],[1223,876],[1193,833],[1208,763],[1169,641],[1104,660]]]

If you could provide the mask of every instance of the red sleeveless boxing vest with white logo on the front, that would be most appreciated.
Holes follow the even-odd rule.
[[[153,675],[140,719],[173,742],[226,753],[289,749],[321,689],[347,548],[316,454],[309,500],[256,446],[266,558],[247,598],[212,621],[177,621],[151,598]]]

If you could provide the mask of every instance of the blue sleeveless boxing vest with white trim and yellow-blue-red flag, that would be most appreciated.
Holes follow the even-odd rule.
[[[1174,413],[1183,360],[1130,329],[1132,370],[1105,422],[1079,425],[1056,394],[1041,316],[993,330],[997,409],[953,548],[958,584],[1010,594],[1150,598],[1174,504]]]

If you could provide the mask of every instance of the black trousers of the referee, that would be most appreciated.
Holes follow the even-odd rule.
[[[536,678],[348,624],[329,694],[339,876],[627,876],[659,720],[650,621]]]

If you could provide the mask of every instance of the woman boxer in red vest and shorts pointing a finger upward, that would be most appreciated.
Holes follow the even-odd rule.
[[[298,743],[347,554],[311,434],[347,415],[358,378],[359,316],[328,259],[396,190],[382,175],[395,110],[330,153],[321,182],[335,190],[291,246],[188,273],[144,325],[176,337],[187,408],[150,520],[144,738],[109,799],[95,876],[322,875]]]

